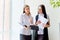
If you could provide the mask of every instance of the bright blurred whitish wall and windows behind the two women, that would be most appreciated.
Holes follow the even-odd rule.
[[[59,40],[60,7],[53,7],[50,0],[0,0],[0,40],[19,40],[19,17],[28,4],[33,17],[38,5],[44,4],[50,17],[49,40]]]

